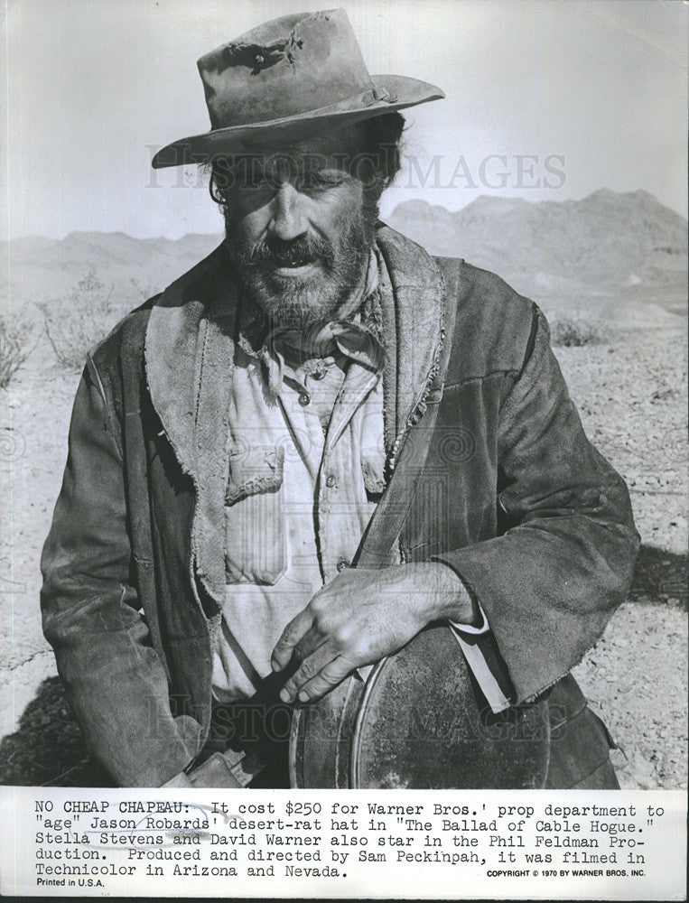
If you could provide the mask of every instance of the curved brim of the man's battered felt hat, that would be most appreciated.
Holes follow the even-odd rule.
[[[325,110],[313,110],[299,116],[216,128],[203,135],[191,135],[167,144],[154,155],[151,165],[154,169],[164,169],[190,163],[209,163],[223,154],[250,154],[266,147],[302,141],[313,135],[314,130],[322,132],[328,128],[339,128],[349,122],[360,122],[445,97],[441,88],[402,75],[373,75],[371,81],[379,93],[389,99],[374,100],[365,105],[361,98],[352,98]]]

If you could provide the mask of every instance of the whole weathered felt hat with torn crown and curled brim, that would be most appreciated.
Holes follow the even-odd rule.
[[[274,19],[201,57],[211,131],[155,154],[156,169],[208,163],[445,95],[401,75],[369,75],[342,9]]]

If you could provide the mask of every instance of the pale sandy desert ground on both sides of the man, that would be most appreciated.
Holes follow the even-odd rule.
[[[543,306],[552,321],[563,310]],[[33,351],[0,390],[0,783],[69,785],[88,781],[86,752],[42,637],[39,557],[79,371],[58,364],[32,317]],[[628,600],[574,673],[617,743],[622,787],[686,788],[684,300],[640,299],[613,320],[555,352],[591,441],[628,482],[643,545]]]

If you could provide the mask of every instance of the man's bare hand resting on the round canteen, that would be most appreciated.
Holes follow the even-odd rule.
[[[469,593],[446,564],[400,564],[343,571],[284,628],[271,664],[301,662],[280,694],[284,702],[317,699],[349,675],[401,649],[443,618],[470,623]]]

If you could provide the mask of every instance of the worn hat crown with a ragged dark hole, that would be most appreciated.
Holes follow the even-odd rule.
[[[263,23],[198,66],[213,129],[299,116],[373,88],[342,9]]]

